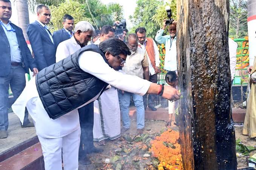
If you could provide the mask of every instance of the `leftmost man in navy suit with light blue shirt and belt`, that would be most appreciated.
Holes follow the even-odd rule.
[[[38,73],[36,65],[20,27],[9,21],[12,6],[9,0],[0,0],[0,139],[7,138],[8,133],[8,89],[9,85],[16,100],[26,86],[25,73],[29,68]],[[24,123],[21,127],[32,127],[25,109]]]

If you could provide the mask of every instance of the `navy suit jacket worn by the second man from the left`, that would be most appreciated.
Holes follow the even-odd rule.
[[[55,63],[56,48],[47,30],[35,21],[28,25],[27,33],[38,71]]]

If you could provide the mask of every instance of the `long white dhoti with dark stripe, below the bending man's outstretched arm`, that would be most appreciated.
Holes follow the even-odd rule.
[[[116,139],[120,137],[120,107],[118,93],[114,87],[104,91],[94,101],[94,140]]]

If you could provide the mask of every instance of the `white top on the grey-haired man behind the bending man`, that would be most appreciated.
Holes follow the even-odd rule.
[[[72,36],[70,39],[67,39],[66,41],[61,42],[58,45],[56,51],[56,62],[59,62],[64,58],[67,58],[68,56],[77,52],[77,50],[79,49],[81,49],[81,46],[77,44],[77,41],[75,40],[74,36]]]

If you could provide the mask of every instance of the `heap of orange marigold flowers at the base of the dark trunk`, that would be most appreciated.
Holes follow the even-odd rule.
[[[150,151],[159,161],[158,170],[183,170],[179,132],[168,129],[152,140]]]

